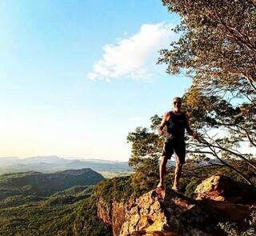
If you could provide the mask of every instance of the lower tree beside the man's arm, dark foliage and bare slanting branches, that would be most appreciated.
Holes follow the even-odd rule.
[[[196,96],[196,101],[193,101],[190,96]],[[245,134],[242,134],[240,130],[234,130],[229,123],[230,120],[234,122],[239,117],[240,108],[234,107],[230,102],[215,96],[199,96],[194,94],[193,90],[186,93],[184,100],[194,129],[199,130],[203,137],[201,142],[194,142],[193,139],[187,142],[189,152],[192,154],[207,154],[217,158],[222,165],[229,167],[243,180],[251,184],[249,178],[246,178],[241,170],[228,162],[230,158],[240,158],[256,173],[256,165],[252,160],[254,154],[242,153],[242,145],[248,143]],[[235,121],[234,124],[242,126],[243,122],[248,123],[242,118],[239,122]]]

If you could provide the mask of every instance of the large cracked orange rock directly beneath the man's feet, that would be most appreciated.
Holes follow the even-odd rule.
[[[127,209],[119,235],[214,235],[214,215],[214,210],[183,194],[158,188]]]

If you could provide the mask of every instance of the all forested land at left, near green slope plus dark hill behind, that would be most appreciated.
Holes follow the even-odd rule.
[[[0,235],[73,235],[79,209],[102,180],[94,170],[0,176]]]

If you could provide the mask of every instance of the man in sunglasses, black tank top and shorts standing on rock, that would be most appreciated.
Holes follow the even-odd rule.
[[[181,111],[182,98],[174,98],[173,107],[174,110],[166,112],[163,115],[161,125],[158,128],[158,134],[161,136],[164,134],[164,127],[167,126],[166,142],[162,149],[162,161],[159,168],[160,181],[158,187],[163,186],[163,179],[166,174],[166,162],[175,152],[176,168],[172,189],[178,190],[178,182],[182,174],[182,165],[185,163],[186,156],[185,129],[193,138],[198,139],[198,134],[191,130],[189,117]]]

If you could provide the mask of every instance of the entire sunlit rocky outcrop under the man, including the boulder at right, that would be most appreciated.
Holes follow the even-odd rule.
[[[100,199],[98,217],[112,226],[114,236],[221,236],[226,234],[217,223],[244,222],[250,218],[255,200],[251,186],[219,175],[202,182],[196,194],[197,199],[193,199],[158,188],[128,202],[113,200],[106,205]]]

